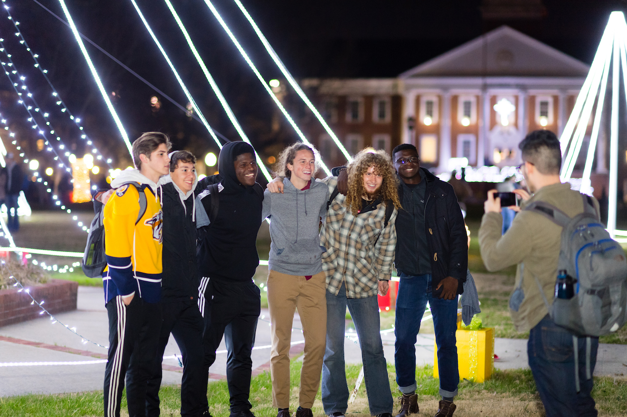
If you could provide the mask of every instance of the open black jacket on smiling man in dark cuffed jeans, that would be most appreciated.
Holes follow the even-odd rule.
[[[466,282],[468,269],[468,236],[461,215],[460,205],[453,187],[443,182],[425,168],[420,168],[421,175],[426,179],[425,206],[424,206],[424,234],[428,246],[428,255],[431,262],[431,288],[434,295],[440,281],[451,276],[459,281],[457,293],[463,293],[463,283]],[[403,185],[399,186],[399,198],[403,199]],[[396,220],[398,230],[399,214]],[[416,259],[412,254],[404,254],[402,248],[416,247],[418,236],[413,232],[417,229],[404,228],[405,232],[398,234],[396,246],[396,267],[408,270],[418,270],[418,265],[403,265],[403,260]],[[401,242],[401,239],[414,240]],[[404,243],[404,244],[401,244]],[[401,264],[401,265],[399,265]]]

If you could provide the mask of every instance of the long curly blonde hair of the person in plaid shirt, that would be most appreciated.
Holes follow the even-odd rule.
[[[366,193],[364,173],[370,167],[374,167],[374,172],[383,177],[381,189],[379,189],[383,202],[387,205],[391,201],[396,209],[401,209],[401,202],[398,199],[398,178],[394,173],[392,160],[385,151],[374,150],[374,148],[361,150],[355,155],[353,162],[349,163],[349,190],[344,200],[346,207],[354,216],[361,210],[362,195]]]

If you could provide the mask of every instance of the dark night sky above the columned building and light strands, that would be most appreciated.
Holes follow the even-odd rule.
[[[39,0],[65,19],[55,0]],[[88,38],[153,83],[181,105],[187,99],[161,53],[150,39],[130,0],[66,0],[78,29]],[[161,0],[137,0],[153,30],[180,71],[192,96],[209,123],[230,139],[238,136],[224,115],[193,58],[171,13]],[[172,0],[234,113],[253,144],[262,148],[273,142],[293,142],[295,134],[285,126],[270,132],[273,104],[250,68],[224,34],[203,0]],[[256,38],[233,0],[215,0],[236,37],[258,65],[266,80],[280,72]],[[625,10],[625,1],[544,0],[546,15],[532,20],[487,21],[481,0],[243,0],[263,33],[296,78],[394,77],[424,61],[508,24],[574,58],[590,63],[609,12]],[[85,131],[107,156],[119,165],[129,162],[119,133],[70,29],[33,0],[6,0],[24,38],[40,56],[43,68],[68,108],[82,117]],[[56,98],[32,59],[14,36],[13,24],[0,10],[0,36],[16,68],[42,110],[50,112],[63,140],[83,152],[80,131],[55,105]],[[87,44],[105,88],[115,91],[114,104],[122,123],[134,139],[142,131],[160,130],[172,136],[175,148],[203,154],[214,148],[207,131],[159,93]],[[0,53],[0,57],[6,57]],[[6,77],[0,79],[0,112],[34,155],[33,131],[28,115],[17,105],[17,96]],[[150,97],[161,98],[161,110],[152,111]],[[31,156],[31,158],[34,156]],[[126,159],[125,159],[126,158]],[[125,166],[125,165],[124,165]]]

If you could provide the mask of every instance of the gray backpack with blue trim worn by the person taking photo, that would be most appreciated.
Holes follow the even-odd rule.
[[[568,217],[557,207],[533,202],[525,207],[563,227],[557,270],[577,280],[571,299],[555,298],[551,318],[576,336],[603,336],[627,320],[627,260],[621,245],[599,223],[592,198],[581,195],[584,212]],[[540,282],[535,278],[538,286]],[[544,291],[540,286],[540,294]]]

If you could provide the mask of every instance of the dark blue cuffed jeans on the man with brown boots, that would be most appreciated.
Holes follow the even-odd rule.
[[[431,274],[413,276],[401,272],[394,323],[396,383],[401,393],[416,391],[416,336],[427,301],[431,306],[435,339],[438,343],[440,395],[454,397],[460,382],[455,339],[457,297],[452,300],[434,298],[431,293]]]

